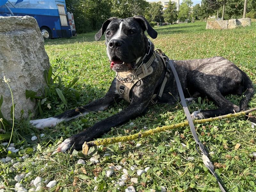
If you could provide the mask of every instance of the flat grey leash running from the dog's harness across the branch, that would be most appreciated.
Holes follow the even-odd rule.
[[[182,106],[183,106],[183,109],[185,111],[185,114],[187,116],[187,119],[188,119],[188,124],[189,124],[189,127],[190,127],[190,130],[193,134],[193,137],[194,137],[194,140],[196,141],[196,150],[199,154],[202,155],[202,159],[203,159],[203,162],[204,162],[204,165],[209,169],[209,171],[214,175],[214,177],[216,178],[219,186],[220,186],[220,190],[222,192],[226,192],[225,189],[222,187],[221,183],[220,183],[220,180],[218,178],[218,175],[217,173],[214,171],[214,167],[213,167],[213,164],[212,162],[209,160],[208,158],[208,153],[207,151],[205,150],[204,148],[204,145],[200,142],[200,140],[198,139],[197,137],[197,134],[196,134],[196,129],[195,129],[195,126],[194,126],[194,123],[193,123],[193,120],[191,118],[191,115],[189,113],[189,110],[188,110],[188,106],[187,106],[187,103],[186,103],[186,100],[185,100],[185,97],[184,97],[184,94],[183,94],[183,91],[182,91],[182,87],[181,87],[181,84],[180,84],[180,79],[179,79],[179,76],[173,66],[173,63],[172,63],[172,60],[168,60],[168,64],[169,66],[171,67],[172,69],[172,73],[174,75],[174,78],[176,80],[176,84],[177,84],[177,87],[178,87],[178,91],[179,91],[179,95],[180,95],[180,100],[181,100],[181,103],[182,103]],[[198,148],[200,149],[200,151],[198,150]]]

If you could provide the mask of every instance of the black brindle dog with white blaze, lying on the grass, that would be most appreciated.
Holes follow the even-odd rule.
[[[105,33],[108,58],[110,67],[116,72],[133,70],[142,62],[147,62],[153,54],[154,45],[148,41],[145,31],[152,38],[157,37],[157,32],[149,25],[143,16],[106,20],[100,31],[95,35],[98,41]],[[208,118],[228,113],[239,112],[247,109],[249,99],[252,97],[254,88],[249,77],[231,61],[223,57],[212,57],[195,60],[172,60],[180,78],[185,97],[205,97],[211,99],[219,108],[214,110],[200,110],[192,113],[193,118]],[[56,152],[65,152],[72,146],[80,150],[85,141],[91,141],[108,132],[111,127],[121,125],[130,119],[142,115],[147,111],[152,95],[158,92],[165,74],[166,68],[156,54],[151,66],[154,72],[140,80],[131,90],[130,105],[119,113],[110,116],[85,131],[73,135],[63,141]],[[107,94],[91,103],[67,110],[64,113],[46,119],[31,121],[36,128],[52,127],[62,121],[69,121],[81,114],[90,111],[100,111],[120,101],[122,96],[116,91],[117,79],[114,78]],[[172,93],[172,95],[170,93]],[[224,95],[244,94],[239,107],[227,100]],[[170,77],[165,85],[164,92],[158,103],[175,104],[179,100],[179,93],[175,79]]]

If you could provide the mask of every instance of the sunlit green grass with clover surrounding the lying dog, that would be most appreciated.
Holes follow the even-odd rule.
[[[232,30],[206,30],[205,25],[204,22],[196,22],[156,27],[158,37],[152,41],[156,48],[162,49],[175,60],[223,56],[244,70],[255,85],[256,23],[252,23],[251,27]],[[37,118],[50,117],[88,103],[103,96],[108,90],[115,73],[109,68],[104,38],[99,42],[94,41],[95,33],[45,42],[53,74],[60,76],[62,81],[56,77],[56,81],[49,84],[49,92],[45,94],[47,98],[44,102],[40,101],[42,112],[37,114]],[[73,88],[79,92],[78,96],[74,90],[65,89],[76,77],[79,77],[79,80]],[[63,92],[65,102],[54,91],[56,88]],[[237,95],[229,95],[227,98],[235,104],[241,99]],[[47,104],[52,108],[47,108]],[[57,186],[51,191],[93,191],[95,186],[98,191],[118,191],[115,181],[121,178],[122,169],[115,171],[109,178],[105,175],[109,165],[121,165],[128,170],[131,178],[138,178],[138,183],[133,184],[128,179],[125,186],[120,187],[120,191],[124,191],[129,185],[133,185],[137,192],[150,189],[160,191],[160,186],[166,187],[167,191],[220,191],[216,180],[195,150],[189,127],[120,145],[116,143],[106,147],[100,146],[91,153],[99,158],[98,164],[92,164],[89,161],[91,156],[85,157],[80,152],[72,155],[51,155],[61,137],[65,139],[81,132],[127,106],[127,103],[121,102],[103,112],[90,113],[45,130],[32,128],[28,120],[17,121],[13,143],[16,148],[23,146],[24,149],[17,154],[9,153],[8,156],[16,158],[17,162],[24,153],[29,154],[29,158],[22,160],[13,171],[10,170],[12,163],[0,164],[0,182],[4,182],[6,190],[12,191],[16,183],[14,176],[31,172],[29,177],[21,180],[27,189],[33,188],[30,181],[40,176],[44,180],[57,181]],[[249,102],[250,108],[255,106],[256,96]],[[198,108],[211,109],[215,106],[205,98],[198,98],[189,109],[192,112]],[[180,106],[156,105],[148,108],[144,116],[112,128],[103,137],[133,134],[143,131],[144,126],[152,129],[182,121],[185,121],[185,114]],[[130,124],[131,122],[134,124]],[[223,180],[224,187],[229,191],[256,191],[256,160],[255,156],[251,155],[256,151],[255,128],[241,117],[197,124],[196,129],[199,139],[211,154],[210,159],[215,163],[215,171]],[[40,137],[41,133],[45,135]],[[39,139],[31,141],[33,135]],[[137,143],[141,143],[141,146],[136,147]],[[182,143],[186,147],[182,147]],[[240,148],[234,148],[236,143],[241,144]],[[2,157],[6,156],[1,147],[0,152]],[[105,153],[110,153],[111,156],[103,157]],[[85,160],[85,165],[76,164],[80,158]],[[32,162],[35,162],[35,165]],[[138,176],[138,169],[130,170],[132,165],[137,165],[138,169],[149,166],[150,170]],[[95,176],[98,176],[97,180],[93,179]],[[42,186],[42,191],[49,190],[45,186]]]

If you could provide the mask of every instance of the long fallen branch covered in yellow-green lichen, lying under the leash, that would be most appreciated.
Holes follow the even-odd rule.
[[[199,120],[194,120],[194,124],[199,124],[199,123],[206,123],[206,122],[212,122],[220,119],[225,119],[225,118],[232,118],[232,117],[238,117],[238,116],[245,116],[248,113],[251,113],[253,111],[256,111],[256,108],[252,108],[246,111],[242,111],[239,113],[233,113],[233,114],[228,114],[228,115],[223,115],[223,116],[218,116],[218,117],[211,117],[208,119],[199,119]],[[162,127],[156,127],[155,129],[150,129],[145,132],[139,132],[133,135],[127,135],[127,136],[121,136],[121,137],[110,137],[110,138],[105,138],[105,139],[98,139],[95,141],[89,141],[89,142],[84,142],[83,144],[83,154],[87,155],[88,150],[92,146],[99,146],[99,145],[110,145],[113,143],[118,143],[118,142],[124,142],[124,141],[129,141],[129,140],[135,140],[143,137],[147,137],[149,135],[154,135],[159,132],[164,132],[164,131],[169,131],[172,129],[176,129],[179,127],[185,127],[188,126],[188,121],[178,123],[178,124],[172,124],[172,125],[166,125]]]

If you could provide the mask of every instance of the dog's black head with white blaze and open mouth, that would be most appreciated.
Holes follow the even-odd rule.
[[[149,25],[145,17],[138,15],[126,19],[115,17],[106,20],[95,35],[97,41],[105,32],[107,54],[110,68],[116,72],[125,72],[135,68],[148,48],[148,39],[144,32],[152,38],[157,32]]]

